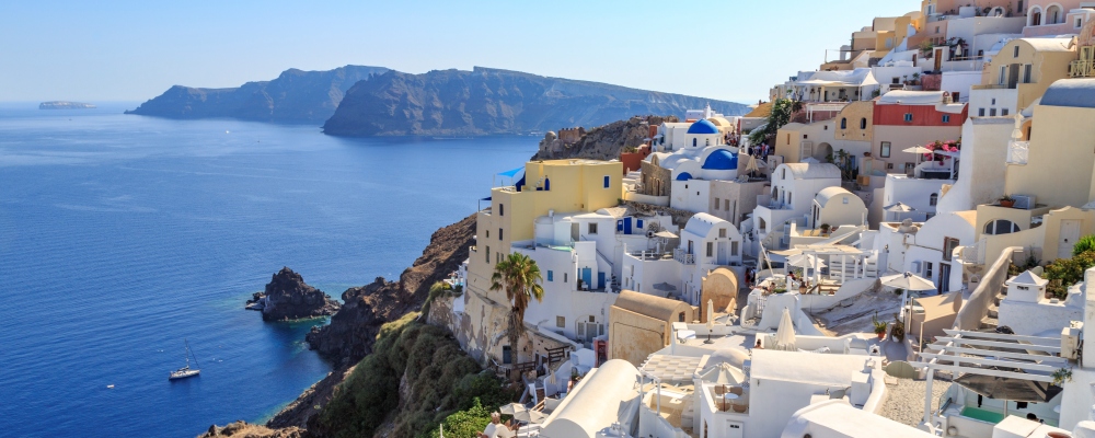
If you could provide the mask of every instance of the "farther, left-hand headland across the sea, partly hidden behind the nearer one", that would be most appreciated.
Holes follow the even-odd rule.
[[[272,81],[247,82],[238,88],[175,85],[126,114],[319,124],[335,113],[346,90],[358,81],[385,71],[388,69],[383,67],[364,66],[326,71],[289,69]]]

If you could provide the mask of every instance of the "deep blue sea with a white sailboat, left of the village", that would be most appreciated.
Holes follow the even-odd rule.
[[[289,266],[333,297],[396,278],[533,137],[342,139],[314,126],[0,104],[0,436],[193,437],[331,370],[243,310]],[[184,339],[201,376],[169,382]],[[114,385],[107,388],[108,385]]]

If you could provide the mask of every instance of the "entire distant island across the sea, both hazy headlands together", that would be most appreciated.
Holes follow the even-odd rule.
[[[639,114],[684,116],[707,105],[741,115],[746,105],[607,83],[475,67],[404,73],[346,66],[290,69],[239,88],[175,85],[126,114],[323,125],[333,136],[484,136],[591,128]]]

